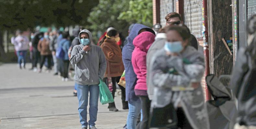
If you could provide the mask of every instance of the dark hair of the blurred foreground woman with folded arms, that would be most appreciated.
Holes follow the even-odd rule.
[[[175,30],[177,31],[183,40],[189,39],[191,36],[190,30],[186,25],[169,25],[164,27],[165,33]]]

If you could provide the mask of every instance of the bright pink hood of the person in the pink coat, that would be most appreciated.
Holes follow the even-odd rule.
[[[142,51],[147,52],[149,47],[155,41],[156,35],[151,32],[145,31],[136,36],[133,40],[133,45],[140,48]]]

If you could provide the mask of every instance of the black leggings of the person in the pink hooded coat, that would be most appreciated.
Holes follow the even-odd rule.
[[[142,121],[137,125],[136,129],[148,129],[148,120],[150,112],[150,104],[148,96],[139,96],[142,108]]]

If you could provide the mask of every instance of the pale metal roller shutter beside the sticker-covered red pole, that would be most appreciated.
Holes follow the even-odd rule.
[[[184,24],[193,35],[203,38],[202,0],[184,0]]]

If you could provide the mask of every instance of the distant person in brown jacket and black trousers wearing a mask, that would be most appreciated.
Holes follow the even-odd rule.
[[[42,67],[47,58],[47,72],[49,73],[51,70],[51,60],[52,60],[52,52],[50,50],[50,39],[48,32],[44,33],[44,37],[40,39],[37,49],[41,54],[41,64],[38,73],[42,72]]]

